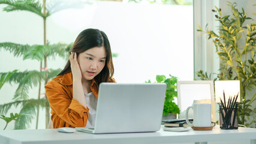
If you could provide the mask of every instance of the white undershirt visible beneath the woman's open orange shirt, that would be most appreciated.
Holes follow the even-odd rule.
[[[94,128],[97,109],[97,98],[94,96],[93,92],[90,92],[88,94],[85,94],[85,100],[87,107],[90,109],[88,113],[86,127]]]

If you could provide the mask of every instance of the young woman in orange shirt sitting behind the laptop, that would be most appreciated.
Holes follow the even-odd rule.
[[[85,29],[76,38],[70,58],[46,89],[53,128],[94,127],[99,85],[115,82],[108,37]]]

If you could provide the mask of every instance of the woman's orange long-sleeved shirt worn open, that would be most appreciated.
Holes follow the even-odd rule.
[[[111,78],[109,82],[115,82]],[[45,86],[49,100],[53,128],[59,127],[85,127],[88,119],[88,107],[84,107],[73,99],[72,73],[66,73],[50,80]],[[99,88],[93,79],[91,91],[98,98]]]

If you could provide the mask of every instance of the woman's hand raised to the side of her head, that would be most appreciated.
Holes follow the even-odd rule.
[[[76,58],[76,52],[71,53],[69,57],[69,61],[70,61],[73,81],[82,80],[81,68],[80,68],[80,65],[78,64],[78,59]]]

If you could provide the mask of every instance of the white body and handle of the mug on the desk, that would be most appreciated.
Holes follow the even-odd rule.
[[[194,110],[193,124],[189,122],[188,113],[189,109]],[[193,106],[187,107],[186,110],[186,122],[193,127],[212,127],[212,106],[211,104],[193,104]]]

